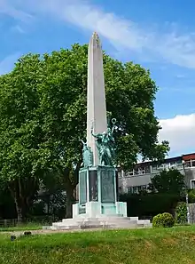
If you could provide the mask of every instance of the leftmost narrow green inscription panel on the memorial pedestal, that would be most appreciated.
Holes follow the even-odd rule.
[[[87,203],[87,172],[79,172],[79,204]]]

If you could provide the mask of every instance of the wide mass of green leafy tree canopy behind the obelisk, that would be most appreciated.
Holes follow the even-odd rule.
[[[22,199],[32,200],[38,180],[53,173],[66,188],[66,216],[82,164],[79,140],[86,136],[87,52],[87,45],[74,44],[43,58],[28,54],[0,78],[1,175],[17,195],[25,182]],[[137,154],[163,159],[168,142],[158,143],[150,72],[106,54],[104,69],[107,111],[119,128],[117,163],[129,169]],[[28,199],[27,182],[35,187]]]

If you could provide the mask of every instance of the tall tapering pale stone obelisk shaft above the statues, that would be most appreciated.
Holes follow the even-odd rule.
[[[87,144],[93,153],[93,165],[97,166],[98,149],[91,135],[91,125],[95,134],[107,131],[103,54],[96,32],[90,38],[88,50]]]

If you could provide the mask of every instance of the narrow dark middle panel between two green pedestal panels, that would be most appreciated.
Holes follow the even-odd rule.
[[[89,171],[90,201],[98,201],[98,171]]]

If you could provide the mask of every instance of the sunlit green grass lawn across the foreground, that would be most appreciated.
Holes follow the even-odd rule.
[[[2,233],[0,263],[192,264],[195,226],[23,236],[13,242]]]

